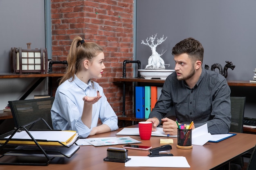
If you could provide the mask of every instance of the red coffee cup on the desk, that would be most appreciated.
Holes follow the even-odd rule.
[[[152,122],[140,121],[139,122],[139,137],[141,140],[149,140],[151,137]]]

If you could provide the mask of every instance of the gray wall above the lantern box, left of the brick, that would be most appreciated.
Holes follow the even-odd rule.
[[[45,48],[45,1],[0,0],[0,73],[11,72],[11,47]]]

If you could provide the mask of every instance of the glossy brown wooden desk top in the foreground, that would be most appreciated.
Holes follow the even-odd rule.
[[[133,126],[137,127],[137,125]],[[116,136],[118,132],[107,132],[104,134],[94,135],[93,137],[122,137]],[[139,136],[131,136],[133,139],[139,141]],[[167,137],[151,137],[148,141],[138,145],[159,147],[159,139]],[[171,153],[174,156],[186,157],[191,168],[189,170],[211,170],[228,163],[232,159],[243,155],[251,150],[256,144],[256,135],[237,133],[234,137],[221,141],[219,143],[207,142],[204,146],[194,145],[192,149],[178,149],[176,148],[177,138],[174,139],[174,144],[171,144]],[[113,147],[120,147],[123,145],[115,145]],[[166,168],[155,167],[125,167],[124,163],[106,162],[103,159],[107,156],[108,146],[81,146],[80,149],[70,159],[61,158],[53,159],[48,166],[37,166],[37,170],[166,170]],[[128,156],[147,156],[148,151],[129,149]],[[5,156],[4,159],[10,159]],[[10,166],[1,165],[1,170],[34,170],[34,166]],[[188,168],[168,168],[171,170],[187,170]]]

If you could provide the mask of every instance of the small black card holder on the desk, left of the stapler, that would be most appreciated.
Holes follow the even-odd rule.
[[[125,163],[130,160],[128,158],[128,150],[125,148],[114,148],[109,147],[107,149],[107,157],[103,159],[104,161],[110,162],[121,162]]]

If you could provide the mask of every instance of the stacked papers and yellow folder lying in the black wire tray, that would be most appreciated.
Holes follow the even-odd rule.
[[[50,157],[70,158],[80,148],[74,144],[79,139],[76,131],[23,130],[20,132],[14,132],[12,134],[13,136],[9,135],[7,137],[0,138],[0,144],[5,144],[5,142],[9,140],[9,145],[16,146],[16,148],[12,149],[6,148],[6,150],[9,150],[9,152],[4,152],[3,156],[8,155],[47,158],[45,163],[36,163],[37,165],[47,165],[50,161]]]

